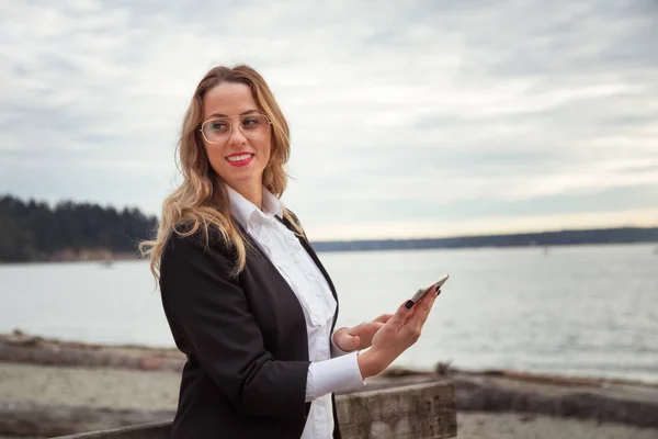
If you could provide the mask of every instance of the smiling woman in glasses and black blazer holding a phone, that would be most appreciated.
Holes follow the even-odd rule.
[[[340,437],[333,392],[413,345],[435,294],[333,330],[333,284],[280,201],[288,126],[252,68],[206,74],[179,147],[183,182],[141,246],[188,359],[172,438]]]

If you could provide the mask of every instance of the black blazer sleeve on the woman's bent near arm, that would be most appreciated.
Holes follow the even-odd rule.
[[[248,415],[305,418],[308,361],[277,361],[245,292],[229,277],[232,258],[173,233],[161,259],[168,317],[202,369]],[[188,352],[185,352],[188,353]]]

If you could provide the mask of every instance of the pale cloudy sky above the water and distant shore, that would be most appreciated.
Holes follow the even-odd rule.
[[[249,64],[311,239],[658,225],[658,3],[0,0],[0,193],[159,215]]]

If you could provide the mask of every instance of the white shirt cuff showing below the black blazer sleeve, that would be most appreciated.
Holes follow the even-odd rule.
[[[306,402],[329,393],[352,392],[365,386],[359,370],[359,352],[351,352],[325,361],[314,361],[308,368]]]

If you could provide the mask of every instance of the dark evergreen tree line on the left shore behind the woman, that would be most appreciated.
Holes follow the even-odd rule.
[[[102,207],[63,201],[55,206],[11,195],[0,196],[0,262],[52,260],[68,251],[103,249],[134,252],[157,226],[155,216],[137,209]]]

